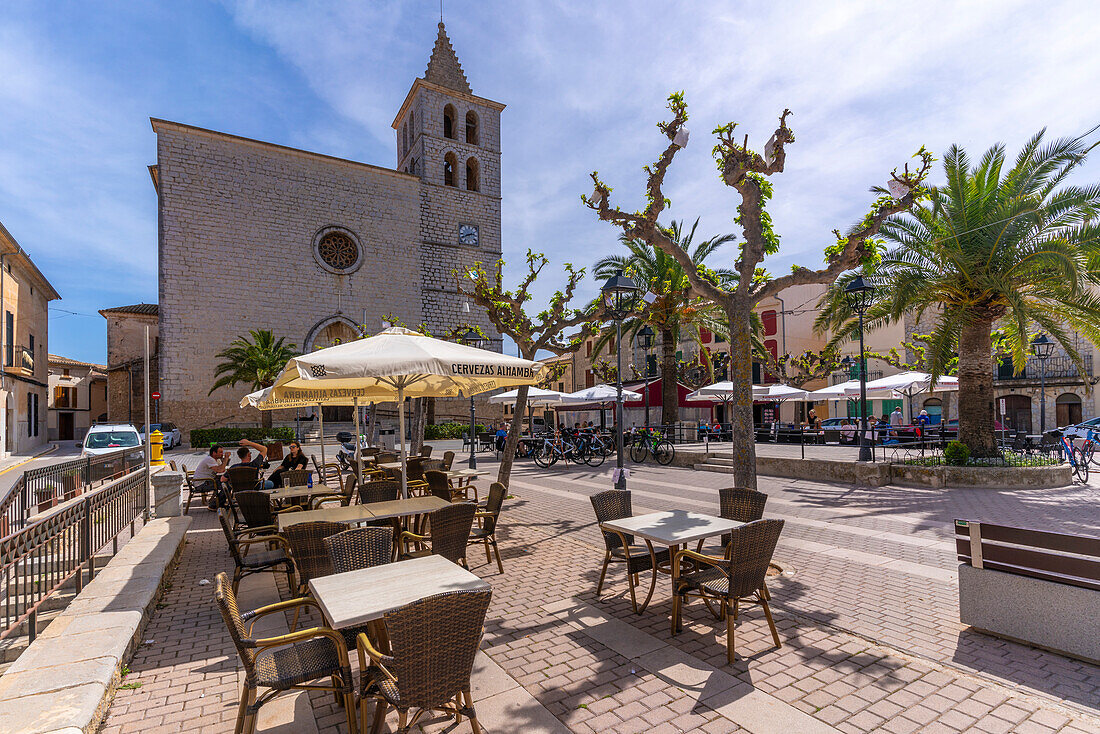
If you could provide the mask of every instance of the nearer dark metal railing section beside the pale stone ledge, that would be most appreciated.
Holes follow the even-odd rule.
[[[34,642],[43,603],[75,580],[79,593],[96,574],[96,554],[148,512],[147,472],[130,472],[119,481],[86,494],[0,539],[0,639],[19,634],[24,625]],[[85,579],[87,573],[87,579]]]

